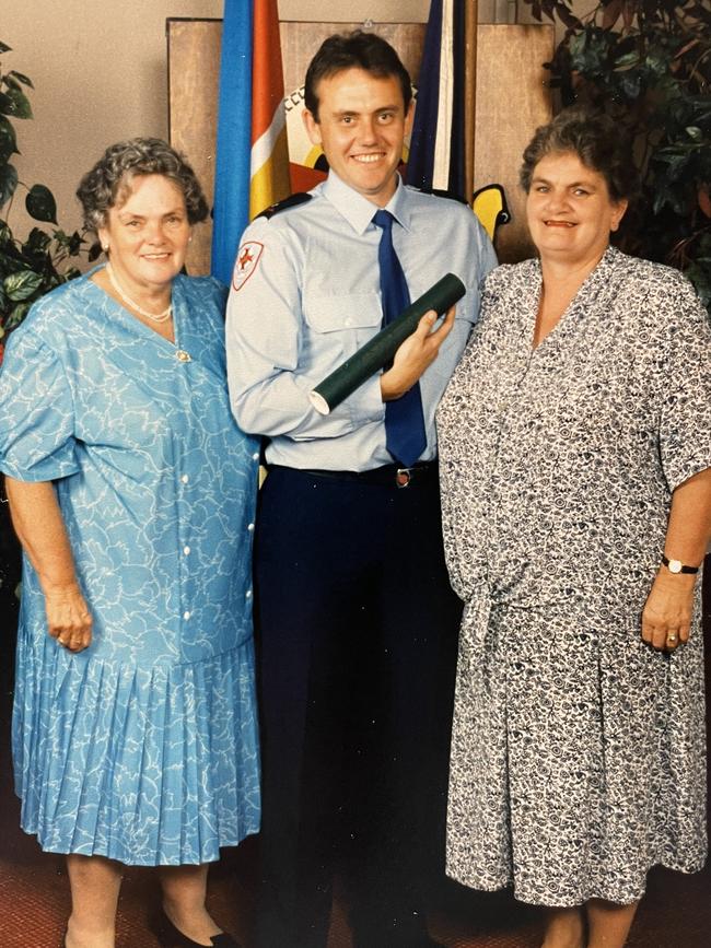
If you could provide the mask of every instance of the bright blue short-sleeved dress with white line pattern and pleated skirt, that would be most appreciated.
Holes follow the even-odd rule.
[[[55,482],[94,622],[79,654],[51,639],[25,558],[15,785],[49,852],[197,864],[258,830],[258,450],[228,402],[223,304],[177,277],[173,344],[82,277],[8,344],[0,468]]]

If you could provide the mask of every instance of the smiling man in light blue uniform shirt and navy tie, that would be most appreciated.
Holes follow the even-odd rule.
[[[255,546],[259,945],[324,948],[337,873],[357,948],[424,948],[461,615],[434,412],[496,258],[466,206],[403,185],[410,80],[385,40],[327,39],[305,104],[328,179],[249,225],[228,307],[233,411],[266,436],[269,468]],[[317,413],[310,390],[448,271],[467,290],[456,312],[424,316],[391,367]]]

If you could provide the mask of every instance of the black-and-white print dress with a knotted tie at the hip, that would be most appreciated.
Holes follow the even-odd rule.
[[[489,276],[438,413],[465,602],[447,871],[629,903],[707,853],[700,602],[673,654],[641,612],[672,492],[711,466],[711,331],[677,271],[609,248],[533,350],[540,285],[536,260]]]

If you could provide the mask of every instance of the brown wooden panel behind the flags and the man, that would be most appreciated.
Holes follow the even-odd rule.
[[[301,97],[299,91],[306,67],[319,44],[333,33],[360,25],[281,23],[288,100]],[[398,50],[417,84],[424,24],[383,23],[376,28]],[[167,23],[171,142],[186,153],[207,195],[212,195],[214,185],[221,33],[219,20]],[[543,63],[552,57],[552,26],[480,25],[478,30],[475,189],[497,183],[506,192],[513,220],[497,234],[502,261],[521,260],[532,253],[518,188],[518,166],[533,130],[551,115]],[[209,271],[210,231],[209,222],[196,231],[188,256],[191,273]]]

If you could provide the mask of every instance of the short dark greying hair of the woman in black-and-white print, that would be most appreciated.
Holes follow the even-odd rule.
[[[536,129],[523,153],[521,186],[528,194],[541,159],[572,153],[605,178],[613,201],[632,201],[639,191],[639,174],[631,151],[629,140],[609,116],[573,105]]]

